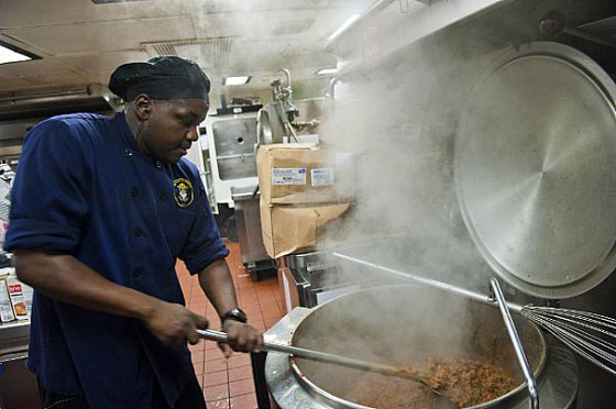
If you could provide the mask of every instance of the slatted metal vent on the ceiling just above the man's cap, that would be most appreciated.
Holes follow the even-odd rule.
[[[234,37],[216,37],[201,40],[169,41],[157,43],[142,43],[151,56],[182,55],[198,62],[204,62],[204,68],[227,68]]]

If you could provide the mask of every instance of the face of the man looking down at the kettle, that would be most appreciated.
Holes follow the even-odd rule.
[[[202,99],[151,100],[150,115],[138,135],[143,154],[165,164],[175,164],[199,139],[197,126],[209,106]]]

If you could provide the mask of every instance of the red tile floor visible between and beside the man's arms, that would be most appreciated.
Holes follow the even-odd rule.
[[[283,317],[283,300],[275,277],[253,281],[241,262],[240,245],[227,242],[231,254],[227,257],[233,274],[240,308],[249,317],[249,323],[266,331]],[[183,263],[177,274],[187,307],[205,314],[211,329],[219,330],[220,321],[212,305],[199,287],[196,276],[190,276]],[[250,355],[234,353],[226,360],[216,342],[201,341],[190,346],[195,373],[204,387],[208,409],[255,409],[256,396]]]

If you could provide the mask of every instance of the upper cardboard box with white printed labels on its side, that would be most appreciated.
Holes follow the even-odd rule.
[[[350,154],[318,144],[262,145],[256,155],[261,198],[266,204],[351,201]],[[341,184],[344,181],[345,184]]]

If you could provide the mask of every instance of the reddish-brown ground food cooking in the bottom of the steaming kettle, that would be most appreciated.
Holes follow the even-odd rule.
[[[369,374],[343,398],[377,409],[453,409],[491,401],[516,387],[502,368],[474,360],[429,360],[421,372],[448,397],[413,380]]]

